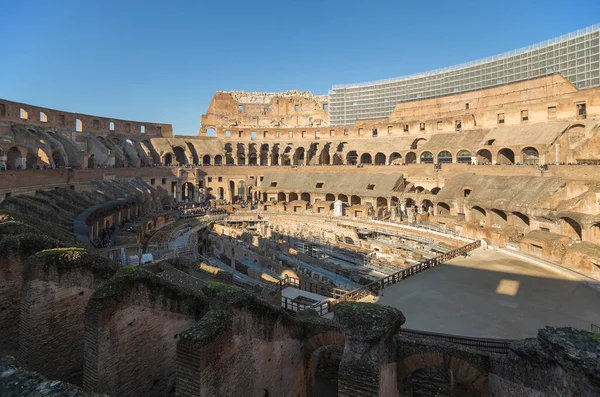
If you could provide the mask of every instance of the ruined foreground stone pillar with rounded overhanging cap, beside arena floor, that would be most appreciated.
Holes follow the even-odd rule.
[[[404,315],[374,303],[343,302],[335,306],[334,320],[346,341],[338,396],[398,395],[393,337],[406,321]]]

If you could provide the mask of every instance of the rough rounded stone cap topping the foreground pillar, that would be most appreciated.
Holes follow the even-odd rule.
[[[342,302],[334,306],[334,321],[347,339],[376,340],[395,333],[406,318],[398,309],[363,302]]]

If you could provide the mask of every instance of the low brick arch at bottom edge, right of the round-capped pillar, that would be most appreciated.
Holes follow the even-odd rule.
[[[403,358],[397,368],[398,391],[403,396],[428,395],[432,385],[442,395],[444,391],[456,396],[487,395],[487,374],[460,357],[423,351]]]

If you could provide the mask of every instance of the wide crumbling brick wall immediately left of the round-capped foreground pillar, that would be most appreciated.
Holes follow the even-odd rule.
[[[310,396],[312,352],[340,344],[328,320],[294,319],[244,290],[205,284],[213,306],[177,345],[178,397]],[[319,339],[320,337],[320,339]],[[319,339],[319,343],[310,343]]]

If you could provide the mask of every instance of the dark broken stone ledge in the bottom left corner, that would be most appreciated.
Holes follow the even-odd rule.
[[[85,392],[80,387],[59,380],[49,380],[27,371],[11,356],[0,357],[0,395],[2,397],[107,397]]]

